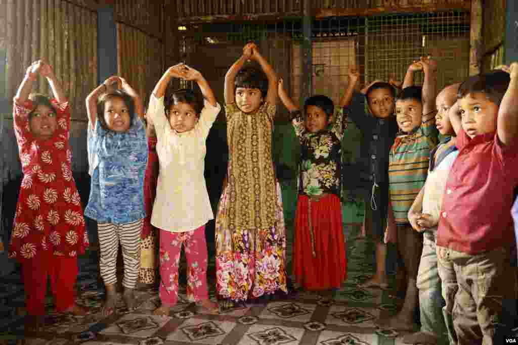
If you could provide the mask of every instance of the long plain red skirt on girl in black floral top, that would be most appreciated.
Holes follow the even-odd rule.
[[[293,274],[304,289],[341,286],[347,278],[347,258],[340,198],[329,194],[317,201],[299,195],[293,251]]]

